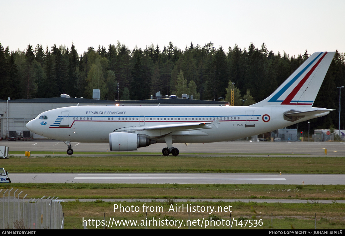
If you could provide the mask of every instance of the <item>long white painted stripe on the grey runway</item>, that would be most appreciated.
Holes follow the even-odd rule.
[[[74,179],[143,179],[142,177],[75,177]],[[202,180],[286,180],[285,178],[206,178],[206,177],[146,177],[144,179],[202,179]]]

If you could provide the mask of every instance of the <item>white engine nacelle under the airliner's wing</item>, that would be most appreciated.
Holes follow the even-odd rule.
[[[113,132],[109,134],[110,151],[133,151],[139,147],[147,147],[155,144],[156,141],[151,140],[147,135]]]

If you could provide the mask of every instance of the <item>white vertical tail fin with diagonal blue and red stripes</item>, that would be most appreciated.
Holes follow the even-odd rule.
[[[313,106],[334,53],[313,53],[272,95],[252,106]]]

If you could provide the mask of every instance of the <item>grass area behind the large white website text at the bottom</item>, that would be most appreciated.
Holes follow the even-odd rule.
[[[123,210],[120,212],[119,208],[114,210],[114,204],[118,207],[121,204],[124,209],[127,207],[127,210],[133,210],[129,210],[128,212]],[[79,201],[62,203],[62,209],[65,216],[64,228],[82,229],[83,219],[93,219],[94,226],[88,226],[88,229],[96,229],[96,220],[99,220],[99,223],[101,223],[102,220],[107,222],[105,224],[106,229],[145,229],[145,225],[140,226],[140,224],[150,224],[147,226],[147,229],[188,229],[186,222],[189,219],[192,223],[190,226],[191,229],[229,229],[229,210],[231,210],[231,222],[233,219],[236,220],[236,225],[234,221],[231,229],[314,229],[315,213],[317,215],[317,229],[344,229],[345,227],[345,204],[338,203],[283,204],[243,203],[240,201],[231,203],[226,203],[224,201],[175,203],[169,199],[165,203],[151,202],[144,204],[145,203],[138,201],[118,203],[103,202],[102,200],[87,203]],[[193,212],[193,208],[189,214],[186,209],[182,211],[181,207],[186,207],[187,205],[195,207],[195,211]],[[197,206],[199,206],[199,208],[197,208]],[[231,206],[231,208],[229,208],[229,206]],[[211,208],[213,208],[212,213],[210,211]],[[175,211],[175,209],[177,209],[177,211]],[[197,209],[199,209],[199,211]],[[202,212],[202,209],[208,210]],[[272,221],[271,214],[273,214]],[[211,217],[215,221],[214,225],[205,226],[206,220],[210,221]],[[156,225],[152,226],[152,218],[156,220]],[[121,221],[121,223],[123,223],[124,220],[127,220],[127,222],[131,220],[133,223],[134,220],[137,225],[131,226],[129,224],[129,226],[115,226],[115,224],[113,224],[111,227],[111,224],[109,224],[110,226],[108,226],[108,221],[112,222],[114,220],[117,223]],[[262,225],[254,227],[255,220],[257,223],[260,221]],[[162,222],[169,222],[172,224],[176,221],[182,222],[181,227],[178,227],[179,223],[177,223],[177,226],[161,225]],[[158,222],[160,225],[158,225]],[[201,225],[201,222],[203,222],[203,225]],[[222,223],[224,223],[224,225],[222,225]],[[252,223],[252,226],[250,226],[250,223]],[[103,229],[103,226],[98,226],[97,229]]]

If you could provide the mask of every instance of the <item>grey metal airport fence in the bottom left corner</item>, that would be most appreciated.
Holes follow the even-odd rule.
[[[0,214],[1,229],[63,229],[62,206],[52,199],[3,196]]]

